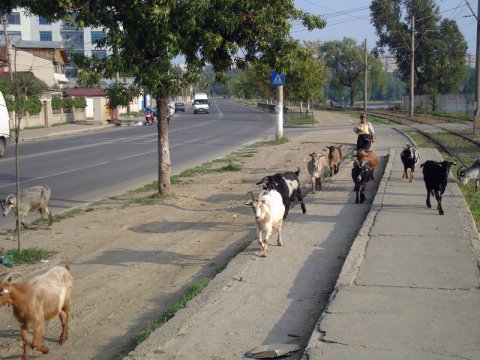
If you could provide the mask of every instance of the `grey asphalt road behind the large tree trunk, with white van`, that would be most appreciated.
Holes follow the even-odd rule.
[[[169,141],[172,174],[275,134],[271,114],[212,99],[210,114],[175,114]],[[127,127],[21,144],[21,188],[48,184],[59,213],[157,179],[157,128]],[[0,168],[0,196],[15,192],[14,147]],[[33,218],[33,217],[32,217]],[[31,219],[29,219],[30,221]],[[14,227],[14,216],[0,229]]]

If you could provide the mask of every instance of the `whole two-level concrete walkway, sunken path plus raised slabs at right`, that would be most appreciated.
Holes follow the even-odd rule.
[[[340,138],[346,129],[328,131]],[[401,178],[406,140],[388,126],[376,130],[375,150],[388,161],[370,210],[354,204],[347,161],[326,184],[328,200],[309,194],[307,214],[289,213],[283,248],[270,246],[260,259],[252,243],[126,359],[243,359],[274,343],[306,347],[288,359],[480,359],[479,236],[470,211],[453,179],[445,215],[435,200],[427,209],[421,169],[413,183]],[[421,162],[440,159],[434,149],[421,154]],[[352,223],[365,217],[350,248]],[[332,259],[342,252],[332,292],[322,271],[336,273]],[[323,313],[322,292],[331,294]],[[302,333],[308,327],[313,333]]]

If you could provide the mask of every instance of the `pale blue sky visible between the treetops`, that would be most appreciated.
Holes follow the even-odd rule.
[[[455,20],[468,45],[468,53],[476,51],[476,19],[467,5],[476,13],[477,0],[436,0],[440,6],[442,18]],[[295,6],[315,15],[322,15],[327,26],[321,30],[309,32],[301,24],[294,23],[291,35],[300,40],[342,40],[349,37],[373,49],[377,42],[375,28],[370,23],[370,4],[367,0],[295,0]]]

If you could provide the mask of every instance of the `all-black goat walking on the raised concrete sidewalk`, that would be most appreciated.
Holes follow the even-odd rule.
[[[423,180],[427,188],[427,207],[429,209],[432,207],[430,203],[431,194],[437,199],[437,209],[440,215],[443,215],[442,195],[447,187],[448,173],[452,165],[455,165],[455,163],[446,160],[442,162],[427,160],[420,165],[423,168]]]

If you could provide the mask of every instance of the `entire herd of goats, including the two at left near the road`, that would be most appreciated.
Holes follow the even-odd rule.
[[[323,151],[326,153],[310,154],[308,172],[311,176],[312,192],[322,189],[322,181],[325,173],[330,176],[339,171],[342,162],[342,145],[327,146]],[[401,152],[401,160],[404,165],[402,178],[413,180],[415,165],[420,159],[420,154],[415,147],[407,145]],[[373,150],[359,149],[352,168],[356,203],[365,201],[365,185],[374,179],[374,170],[379,159]],[[427,206],[430,208],[430,194],[437,199],[437,209],[443,215],[442,195],[447,185],[450,161],[437,162],[428,160],[420,166],[423,168],[425,186],[427,188]],[[408,172],[410,170],[410,172]],[[302,191],[299,182],[300,169],[296,172],[284,172],[271,176],[265,176],[257,185],[261,185],[257,198],[250,192],[251,200],[247,202],[255,214],[257,226],[257,238],[261,245],[260,256],[267,256],[268,239],[275,229],[278,233],[277,244],[282,246],[281,229],[283,221],[288,215],[291,202],[298,199],[303,213],[306,213]],[[457,173],[458,179],[466,184],[469,180],[475,180],[475,191],[480,184],[480,159],[468,168],[461,168]],[[51,190],[47,185],[34,186],[20,192],[17,206],[16,196],[8,195],[0,204],[3,215],[7,216],[11,209],[18,207],[19,222],[27,228],[26,217],[30,212],[38,211],[43,216],[48,215],[49,225],[52,224],[52,216],[48,209]],[[18,226],[18,224],[17,224]],[[48,347],[41,345],[45,321],[56,316],[62,323],[62,333],[59,342],[63,344],[68,337],[68,319],[71,307],[73,279],[69,266],[55,266],[48,272],[38,275],[24,282],[12,282],[12,274],[3,275],[0,278],[0,306],[10,305],[13,308],[15,318],[20,323],[23,340],[23,359],[28,359],[28,347],[44,354],[48,353]],[[28,330],[33,329],[33,340],[29,344]]]

